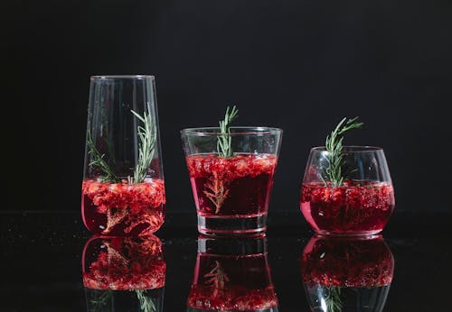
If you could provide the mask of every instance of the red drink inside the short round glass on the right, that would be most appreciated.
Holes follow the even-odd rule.
[[[394,206],[394,189],[382,182],[344,181],[337,188],[304,183],[300,198],[303,216],[320,234],[379,233]]]

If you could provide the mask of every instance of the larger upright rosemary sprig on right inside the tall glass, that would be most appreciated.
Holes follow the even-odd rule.
[[[128,177],[129,184],[141,183],[145,180],[146,172],[151,165],[155,151],[155,129],[151,115],[145,113],[141,116],[133,110],[131,112],[143,123],[143,126],[138,125],[137,127],[140,141],[138,146],[138,161],[133,179]]]

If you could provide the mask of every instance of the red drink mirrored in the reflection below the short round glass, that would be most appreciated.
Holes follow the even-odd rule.
[[[394,259],[381,236],[312,238],[301,258],[303,281],[325,287],[372,288],[391,284]]]

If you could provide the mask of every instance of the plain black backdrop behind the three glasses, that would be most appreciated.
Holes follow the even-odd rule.
[[[25,1],[4,4],[6,203],[80,209],[89,76],[155,75],[167,211],[194,211],[179,130],[284,129],[271,211],[297,211],[310,147],[343,116],[382,146],[396,209],[450,210],[452,3]],[[7,125],[13,124],[11,125]]]

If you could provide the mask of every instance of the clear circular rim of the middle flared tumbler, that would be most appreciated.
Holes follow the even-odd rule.
[[[275,127],[267,126],[233,126],[230,128],[229,135],[262,135],[262,134],[281,134],[283,130]],[[185,128],[181,130],[181,135],[193,136],[214,136],[221,135],[220,127],[200,127],[200,128]]]

